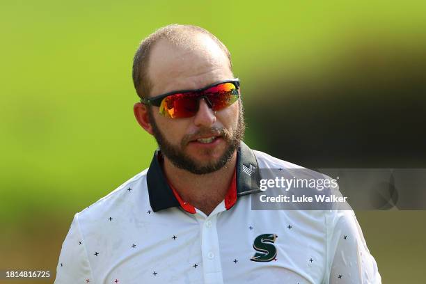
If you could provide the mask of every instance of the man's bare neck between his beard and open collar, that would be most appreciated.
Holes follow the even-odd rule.
[[[164,157],[164,174],[178,191],[182,200],[209,215],[225,198],[236,164],[237,151],[218,171],[196,175],[177,168],[167,157]]]

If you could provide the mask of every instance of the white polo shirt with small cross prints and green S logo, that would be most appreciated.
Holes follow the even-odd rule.
[[[351,210],[251,210],[258,190],[247,169],[299,166],[241,143],[236,198],[230,189],[206,216],[182,208],[158,155],[150,168],[75,214],[56,284],[381,283]]]

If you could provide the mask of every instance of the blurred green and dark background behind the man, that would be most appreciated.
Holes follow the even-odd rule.
[[[228,46],[251,148],[425,167],[425,15],[425,1],[1,1],[0,269],[55,272],[74,213],[149,165],[132,57],[166,24]],[[356,212],[384,283],[424,283],[425,213]]]

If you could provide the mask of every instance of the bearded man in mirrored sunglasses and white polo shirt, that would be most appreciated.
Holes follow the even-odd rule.
[[[150,167],[74,216],[55,283],[381,283],[352,211],[251,210],[260,168],[298,168],[242,142],[228,49],[197,26],[140,45]]]

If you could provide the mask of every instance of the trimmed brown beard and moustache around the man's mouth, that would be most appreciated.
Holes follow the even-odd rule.
[[[189,171],[196,175],[204,175],[206,173],[212,173],[218,171],[220,168],[226,165],[231,159],[233,153],[239,147],[239,143],[244,138],[244,130],[246,128],[244,122],[244,113],[241,100],[238,100],[239,111],[238,111],[238,122],[237,128],[233,132],[230,132],[229,129],[219,128],[219,127],[203,127],[198,129],[194,134],[184,136],[180,145],[173,145],[167,141],[166,137],[161,133],[157,123],[155,123],[155,118],[152,115],[152,109],[148,109],[148,116],[150,123],[152,125],[152,132],[154,133],[155,140],[161,150],[161,153],[167,157],[174,166],[177,168],[182,168],[183,170]],[[201,164],[200,162],[195,161],[189,155],[185,154],[184,148],[187,143],[191,141],[190,137],[194,136],[207,136],[207,135],[216,135],[221,136],[221,139],[225,141],[226,148],[223,152],[223,155],[219,157],[216,161],[208,161],[207,164]]]

